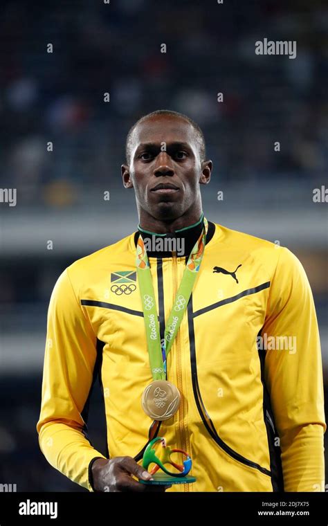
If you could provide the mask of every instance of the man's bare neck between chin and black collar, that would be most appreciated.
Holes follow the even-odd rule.
[[[152,234],[175,233],[183,228],[197,226],[202,219],[203,212],[201,208],[198,209],[198,207],[197,210],[193,210],[192,213],[182,215],[176,219],[156,219],[156,217],[152,217],[151,215],[145,217],[140,214],[138,228],[139,230]]]

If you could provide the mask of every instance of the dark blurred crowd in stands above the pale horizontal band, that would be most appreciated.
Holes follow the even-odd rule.
[[[197,120],[223,181],[320,180],[327,20],[316,0],[3,1],[1,188],[65,207],[120,185],[129,127],[160,108]],[[296,59],[255,55],[264,37],[295,39]]]

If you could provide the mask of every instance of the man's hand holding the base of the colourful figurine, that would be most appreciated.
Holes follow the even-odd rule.
[[[135,475],[142,480],[150,480],[152,475],[137,464],[132,457],[98,458],[91,467],[95,491],[165,491],[167,486],[148,486],[134,480]]]

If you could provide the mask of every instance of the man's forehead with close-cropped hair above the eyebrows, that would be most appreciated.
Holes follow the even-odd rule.
[[[188,143],[197,149],[197,132],[187,120],[173,116],[156,116],[145,119],[134,129],[131,137],[132,152],[141,143]]]

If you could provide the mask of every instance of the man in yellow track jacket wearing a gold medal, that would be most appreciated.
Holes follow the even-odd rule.
[[[192,458],[196,482],[168,491],[324,491],[322,365],[307,276],[287,248],[206,220],[200,185],[211,171],[187,116],[141,118],[122,165],[138,231],[73,263],[53,290],[39,444],[89,491],[148,489],[138,480],[151,478],[141,460],[153,437]],[[86,435],[98,374],[106,456]],[[164,388],[149,398],[156,381]],[[158,400],[165,405],[171,388],[177,405],[161,419]]]

